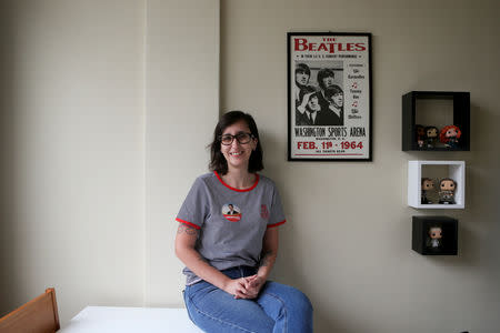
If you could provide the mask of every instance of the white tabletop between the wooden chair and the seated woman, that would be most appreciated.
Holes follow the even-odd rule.
[[[87,306],[58,333],[202,333],[186,309]]]

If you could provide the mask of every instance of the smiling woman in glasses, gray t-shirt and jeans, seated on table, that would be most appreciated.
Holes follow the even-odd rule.
[[[194,181],[176,219],[190,319],[206,332],[312,332],[309,299],[267,281],[286,220],[274,183],[256,173],[263,164],[253,118],[222,115],[210,148],[212,173]]]

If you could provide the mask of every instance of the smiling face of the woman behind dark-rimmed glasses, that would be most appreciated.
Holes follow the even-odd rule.
[[[250,133],[250,129],[244,120],[227,127],[222,131],[222,135],[236,135],[238,133]],[[221,144],[220,151],[228,162],[228,170],[243,169],[248,170],[248,162],[252,151],[257,148],[257,139],[251,139],[248,143],[239,143],[234,138],[229,145]]]

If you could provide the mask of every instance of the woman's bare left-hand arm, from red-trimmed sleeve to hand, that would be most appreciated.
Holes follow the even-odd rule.
[[[183,223],[179,223],[176,236],[176,255],[199,278],[214,286],[234,295],[247,297],[244,280],[232,280],[217,269],[209,265],[200,253],[194,249],[199,230]]]

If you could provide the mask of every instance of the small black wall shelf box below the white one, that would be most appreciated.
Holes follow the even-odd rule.
[[[457,255],[458,220],[448,216],[413,216],[411,249],[423,255]],[[432,244],[429,231],[440,228],[439,245]]]

